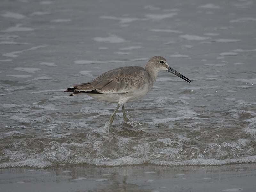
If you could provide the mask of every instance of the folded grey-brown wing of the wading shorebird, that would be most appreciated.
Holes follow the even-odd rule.
[[[73,85],[69,89],[77,93],[127,93],[137,86],[143,86],[149,80],[148,77],[148,72],[142,67],[121,67],[105,72],[91,82]]]

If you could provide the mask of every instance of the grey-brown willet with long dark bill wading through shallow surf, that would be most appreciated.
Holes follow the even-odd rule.
[[[187,77],[172,69],[163,57],[155,56],[148,60],[145,68],[128,66],[112,69],[88,83],[73,85],[65,92],[72,92],[70,96],[83,93],[96,100],[117,103],[117,107],[109,119],[110,128],[120,106],[122,106],[124,122],[128,122],[124,104],[142,98],[156,82],[157,74],[160,71],[168,71],[191,83]]]

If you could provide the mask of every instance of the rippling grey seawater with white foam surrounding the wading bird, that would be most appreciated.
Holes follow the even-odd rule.
[[[253,1],[3,1],[0,168],[256,163]],[[167,72],[125,105],[64,90],[103,72]],[[132,125],[132,126],[131,126]]]

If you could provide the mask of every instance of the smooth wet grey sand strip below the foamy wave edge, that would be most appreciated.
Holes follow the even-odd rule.
[[[166,167],[63,166],[0,170],[0,191],[255,191],[256,164]]]

